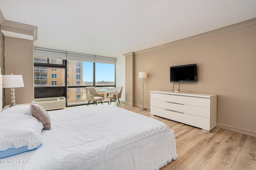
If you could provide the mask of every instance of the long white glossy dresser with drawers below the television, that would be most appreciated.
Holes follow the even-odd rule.
[[[150,113],[210,131],[217,123],[217,95],[150,91]]]

